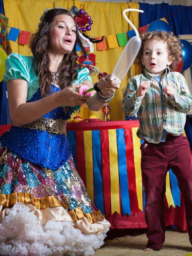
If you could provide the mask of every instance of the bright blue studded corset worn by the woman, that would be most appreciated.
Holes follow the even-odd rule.
[[[60,91],[54,85],[52,85],[51,89],[52,92]],[[38,90],[27,102],[36,101],[40,98],[41,93]],[[66,114],[63,108],[59,107],[42,117],[67,120],[70,118],[70,115]],[[51,135],[47,131],[43,132],[39,129],[32,130],[12,126],[0,138],[4,146],[26,161],[52,170],[60,168],[71,155],[71,148],[65,134]]]

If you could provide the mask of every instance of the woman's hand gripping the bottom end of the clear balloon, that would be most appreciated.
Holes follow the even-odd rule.
[[[120,84],[121,80],[118,77],[114,74],[109,74],[101,78],[97,83],[97,86],[103,94],[107,95],[111,92],[115,92],[116,89],[119,89]]]

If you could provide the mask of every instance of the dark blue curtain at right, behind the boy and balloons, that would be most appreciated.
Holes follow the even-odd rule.
[[[145,26],[154,20],[165,18],[173,28],[175,35],[192,34],[192,6],[169,4],[140,4],[139,27]],[[187,116],[185,132],[192,149],[192,117]]]

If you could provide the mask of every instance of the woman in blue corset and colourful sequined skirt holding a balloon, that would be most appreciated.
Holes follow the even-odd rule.
[[[34,56],[6,60],[12,127],[0,142],[1,255],[92,255],[109,229],[75,170],[65,133],[79,104],[99,110],[120,81],[105,76],[90,97],[75,91],[93,86],[88,69],[77,70],[80,39],[71,12],[54,8],[33,36]]]

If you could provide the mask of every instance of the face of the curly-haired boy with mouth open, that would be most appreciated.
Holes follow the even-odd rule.
[[[172,58],[168,56],[167,42],[153,39],[146,40],[141,61],[150,73],[162,77],[166,67],[172,63]]]

